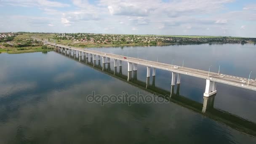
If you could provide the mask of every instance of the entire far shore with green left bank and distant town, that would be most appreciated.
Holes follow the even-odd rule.
[[[5,32],[0,33],[0,53],[51,51],[52,47],[43,45],[45,41],[80,48],[204,43],[256,44],[256,38],[246,37]]]

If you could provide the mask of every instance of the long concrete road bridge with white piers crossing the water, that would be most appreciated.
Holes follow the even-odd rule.
[[[150,68],[152,67],[152,76],[154,77],[156,75],[156,69],[163,69],[166,71],[169,71],[172,73],[172,79],[171,79],[171,85],[179,84],[181,83],[181,75],[189,75],[192,77],[198,77],[203,78],[206,80],[205,85],[205,93],[203,96],[209,97],[217,93],[216,91],[216,83],[224,83],[227,85],[233,85],[240,88],[246,88],[253,91],[256,91],[256,81],[246,79],[243,77],[236,77],[232,75],[220,75],[215,72],[210,72],[210,70],[203,71],[199,69],[192,69],[188,67],[178,67],[175,68],[175,65],[172,64],[164,64],[161,62],[156,61],[148,61],[145,59],[138,59],[133,57],[124,57],[121,55],[116,55],[113,53],[104,53],[100,51],[93,51],[90,49],[85,48],[76,48],[72,46],[67,45],[60,45],[55,43],[49,43],[46,42],[45,44],[54,46],[55,48],[59,48],[61,51],[64,51],[65,53],[74,53],[78,54],[79,56],[85,56],[86,59],[88,59],[89,55],[93,61],[96,61],[96,59],[101,60],[102,63],[110,63],[110,59],[114,59],[114,67],[117,67],[117,60],[119,61],[119,66],[122,66],[122,61],[128,63],[128,79],[129,75],[132,71],[137,71],[137,65],[140,64],[142,66],[147,67],[147,77],[150,77]],[[176,80],[177,75],[177,80]],[[244,80],[244,83],[241,83],[240,80]]]

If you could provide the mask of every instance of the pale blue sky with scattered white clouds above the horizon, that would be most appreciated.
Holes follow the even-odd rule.
[[[256,0],[0,0],[0,32],[256,37]]]

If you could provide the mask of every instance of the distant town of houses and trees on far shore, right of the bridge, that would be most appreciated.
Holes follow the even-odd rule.
[[[215,36],[168,36],[168,35],[112,35],[91,33],[60,33],[55,40],[99,44],[173,44],[173,43],[256,43],[256,38]]]

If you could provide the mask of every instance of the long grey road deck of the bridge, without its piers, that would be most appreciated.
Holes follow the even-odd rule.
[[[215,73],[215,72],[210,72],[210,75],[208,77],[207,71],[203,71],[203,70],[199,70],[199,69],[192,69],[192,68],[187,68],[187,67],[179,67],[179,69],[176,69],[176,68],[173,68],[174,65],[164,64],[164,63],[160,63],[160,62],[156,62],[156,61],[147,61],[145,59],[137,59],[137,58],[133,58],[133,57],[127,57],[127,59],[124,59],[124,56],[120,56],[120,55],[116,55],[116,54],[112,54],[112,53],[104,53],[104,52],[100,52],[100,51],[93,51],[93,50],[84,49],[84,48],[76,48],[76,47],[71,47],[71,46],[67,46],[67,45],[59,45],[59,44],[52,44],[52,43],[47,43],[47,44],[62,47],[62,48],[68,48],[71,50],[82,51],[85,53],[92,53],[95,55],[105,56],[105,57],[109,57],[112,59],[118,59],[118,60],[127,61],[127,62],[140,64],[140,65],[144,65],[144,66],[155,67],[157,69],[163,69],[163,70],[167,70],[170,72],[180,73],[183,75],[189,75],[189,76],[199,77],[199,78],[203,78],[203,79],[210,79],[211,81],[215,81],[217,83],[224,83],[227,85],[233,85],[233,86],[256,91],[256,81],[250,80],[249,85],[247,85],[248,79],[243,78],[243,77],[235,77],[232,75],[223,75],[224,77],[220,77],[219,74]],[[240,83],[239,80],[245,80],[247,83]]]

